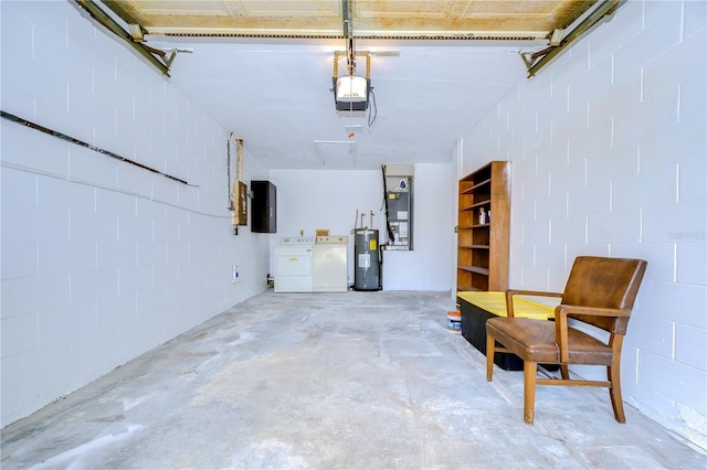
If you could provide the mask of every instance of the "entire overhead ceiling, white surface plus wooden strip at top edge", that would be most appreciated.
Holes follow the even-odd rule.
[[[528,79],[519,52],[546,49],[597,0],[102,1],[151,54],[193,50],[176,54],[169,79],[270,168],[377,169],[451,161]],[[347,45],[358,76],[370,53],[366,116],[335,108]]]

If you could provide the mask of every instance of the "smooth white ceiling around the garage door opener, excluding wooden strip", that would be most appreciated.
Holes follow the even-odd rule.
[[[342,39],[148,36],[147,43],[193,50],[176,55],[169,81],[274,169],[451,161],[457,139],[527,79],[518,51],[529,47],[528,41],[358,40],[357,52],[371,52],[374,94],[361,116],[335,109],[334,51],[345,50]],[[357,64],[365,75],[365,57]],[[346,57],[339,71],[346,74]]]

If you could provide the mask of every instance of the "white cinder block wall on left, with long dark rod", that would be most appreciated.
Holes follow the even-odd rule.
[[[226,129],[70,2],[0,6],[3,111],[191,184],[1,120],[4,426],[265,289],[268,246],[232,234]]]

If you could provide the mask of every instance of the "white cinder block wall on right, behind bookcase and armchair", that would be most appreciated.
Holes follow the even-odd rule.
[[[706,7],[627,2],[498,103],[461,162],[513,162],[511,287],[561,290],[578,255],[648,260],[624,399],[703,448]]]

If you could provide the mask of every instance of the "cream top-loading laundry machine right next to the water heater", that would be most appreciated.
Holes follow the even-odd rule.
[[[314,291],[348,290],[348,236],[318,236],[314,245]]]

